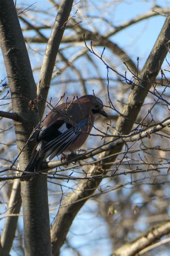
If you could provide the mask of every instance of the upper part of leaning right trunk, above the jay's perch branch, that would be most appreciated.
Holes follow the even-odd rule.
[[[170,15],[167,17],[164,26],[156,40],[156,43],[143,67],[139,76],[137,84],[142,85],[147,90],[150,89],[151,83],[149,81],[155,81],[157,74],[160,71],[160,67],[166,57],[170,40]],[[137,115],[141,109],[141,106],[147,96],[147,91],[142,87],[136,87],[129,94],[126,105],[123,108],[122,114],[127,118],[133,116],[133,120],[136,120]],[[119,116],[116,129],[120,134],[126,134],[132,127],[132,123],[126,120],[123,116]]]

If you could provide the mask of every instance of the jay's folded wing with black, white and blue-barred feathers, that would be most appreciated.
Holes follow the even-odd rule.
[[[49,155],[49,160],[60,155],[67,149],[82,132],[82,128],[87,124],[87,120],[83,119],[79,123],[70,124],[63,120],[56,122],[45,128],[38,139],[41,140],[38,144],[37,151],[39,156],[46,159]]]

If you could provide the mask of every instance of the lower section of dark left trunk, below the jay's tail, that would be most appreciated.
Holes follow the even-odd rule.
[[[25,255],[51,254],[46,175],[22,181]]]

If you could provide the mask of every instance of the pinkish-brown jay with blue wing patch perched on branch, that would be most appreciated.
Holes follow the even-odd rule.
[[[68,151],[74,153],[88,138],[98,114],[108,117],[103,102],[93,95],[53,108],[37,136],[38,145],[25,171],[38,171],[48,156],[52,160]]]

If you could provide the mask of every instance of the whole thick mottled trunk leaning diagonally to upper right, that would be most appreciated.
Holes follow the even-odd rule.
[[[156,79],[157,74],[160,71],[160,67],[162,62],[165,59],[165,56],[168,51],[168,43],[170,41],[170,15],[166,18],[164,26],[158,36],[156,43],[143,67],[143,70],[140,75],[140,85],[144,88],[149,89],[151,84],[148,82],[148,78],[150,81],[154,81]],[[122,114],[127,118],[130,118],[132,121],[135,121],[137,115],[141,109],[141,106],[147,96],[147,91],[141,87],[135,87],[132,92],[129,94],[126,105],[124,105]],[[119,116],[117,120],[116,129],[121,134],[128,133],[133,126],[133,122],[129,122],[123,116]],[[110,151],[103,153],[100,155],[99,159],[102,160],[103,157],[117,153],[121,151],[123,145],[115,146]],[[114,161],[115,156],[110,157],[109,161]],[[103,161],[103,163],[107,163],[108,159]],[[89,171],[89,176],[91,173],[93,175],[100,175],[103,173],[104,169],[109,169],[109,166],[104,165],[102,167],[94,167]],[[79,186],[76,188],[74,193],[69,194],[65,200],[63,201],[63,205],[58,212],[57,218],[51,229],[51,238],[52,238],[52,250],[54,255],[59,255],[60,248],[66,239],[67,232],[76,216],[77,212],[86,202],[90,195],[92,195],[100,184],[101,180],[86,180],[80,182]],[[62,232],[61,232],[62,231]]]

